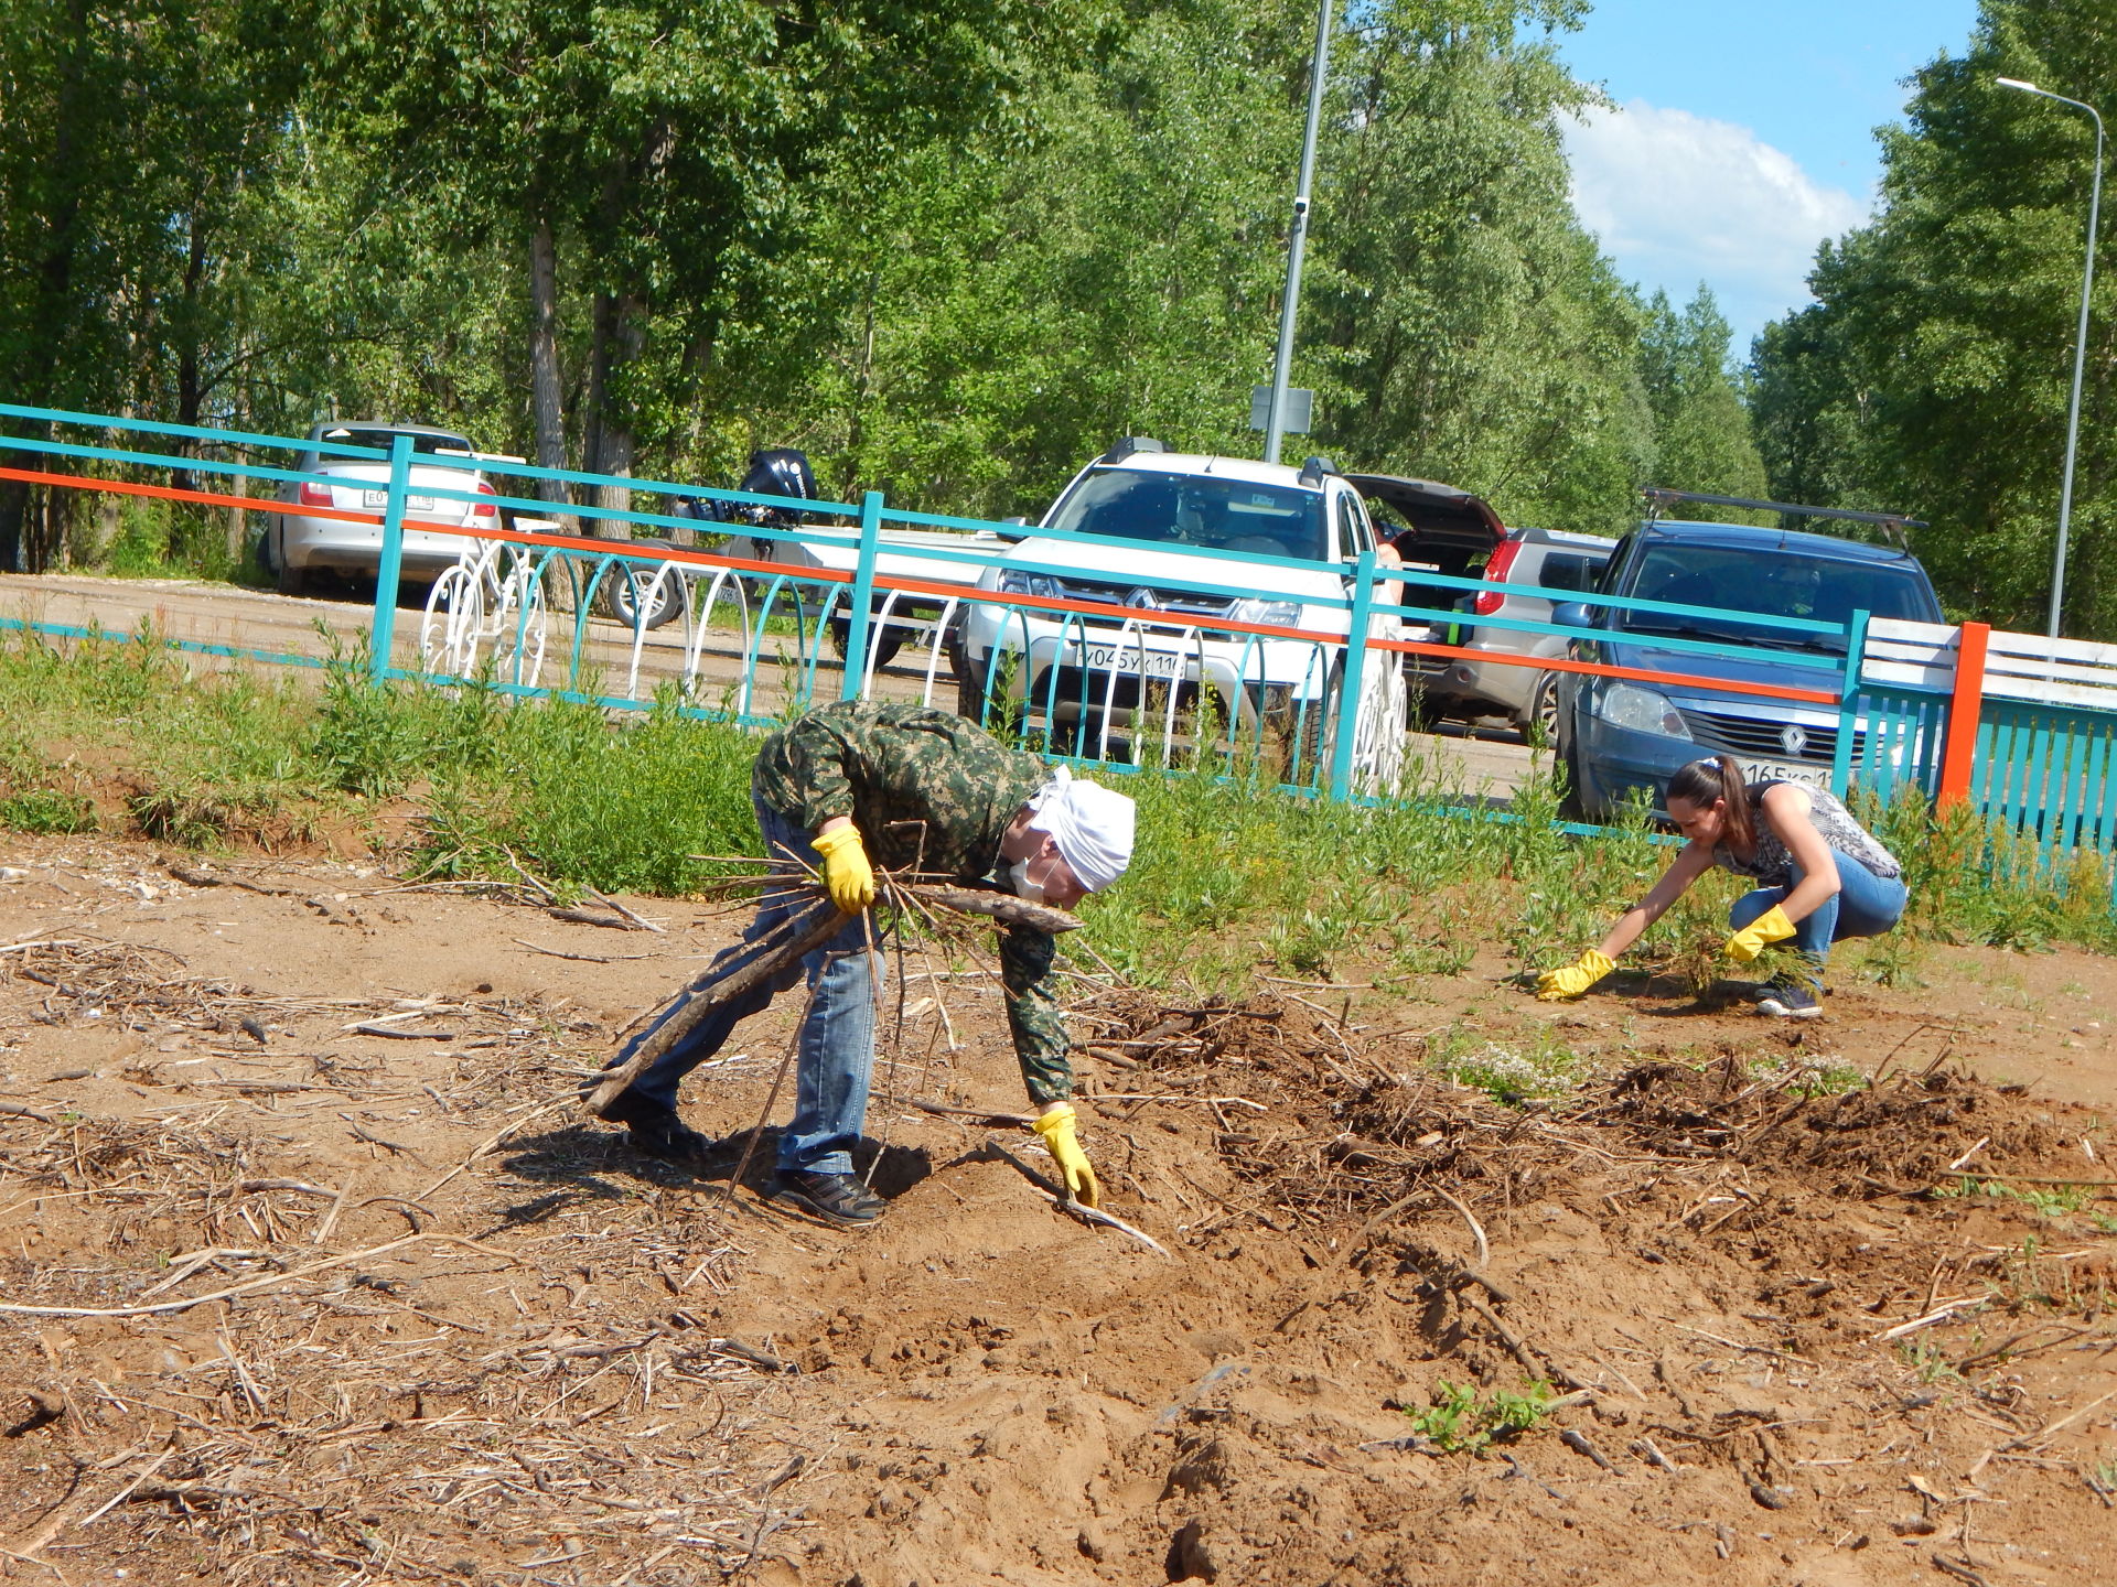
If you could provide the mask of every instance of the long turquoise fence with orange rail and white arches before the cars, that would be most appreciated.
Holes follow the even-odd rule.
[[[1156,544],[1166,573],[1097,580],[1025,554],[1109,540],[889,508],[790,501],[669,480],[544,470],[514,459],[390,451],[0,404],[40,436],[0,436],[0,478],[51,491],[303,518],[364,544],[375,565],[377,683],[483,683],[612,709],[656,700],[766,724],[817,698],[917,698],[1020,734],[1078,764],[1224,766],[1332,800],[1387,800],[1406,766],[1408,658],[1469,656],[1454,607],[1406,603],[1372,546],[1338,563]],[[318,459],[311,470],[301,463]],[[324,459],[375,466],[347,482]],[[417,476],[415,476],[417,468]],[[227,489],[203,489],[212,478]],[[254,493],[260,485],[271,495]],[[597,506],[555,508],[580,497]],[[652,508],[652,510],[650,510]],[[1325,576],[1319,580],[1319,576]],[[1418,571],[1421,590],[1550,595]],[[406,592],[423,601],[400,609]],[[1433,597],[1427,597],[1433,599]],[[1668,601],[1575,597],[1675,618]],[[1742,614],[1816,650],[1655,639],[1655,650],[1768,658],[1797,683],[1727,681],[1581,660],[1488,664],[1717,690],[1835,713],[1831,783],[1882,798],[1916,787],[2020,823],[2058,849],[2117,842],[2117,647],[1937,628]],[[1486,628],[1588,641],[1554,622]],[[83,624],[0,626],[85,635]],[[313,667],[320,656],[167,641]],[[1706,671],[1706,669],[1700,669]]]

